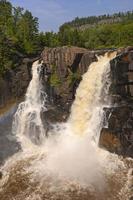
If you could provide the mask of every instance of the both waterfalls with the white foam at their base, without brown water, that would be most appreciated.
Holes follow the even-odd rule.
[[[64,191],[67,183],[76,183],[95,192],[107,187],[106,176],[115,173],[119,175],[120,170],[125,170],[124,163],[118,156],[98,148],[104,117],[103,107],[110,103],[109,62],[115,57],[115,53],[110,56],[105,54],[89,66],[77,89],[69,120],[65,124],[59,124],[58,131],[55,129],[45,144],[41,145],[40,141],[45,140],[45,127],[40,113],[43,109],[46,110],[46,99],[42,98],[38,73],[41,64],[38,61],[33,64],[33,77],[26,100],[19,105],[13,124],[24,154],[22,152],[14,156],[14,162],[10,164],[9,161],[7,168],[18,160],[33,157],[26,171],[32,174],[33,182],[39,181],[40,188],[48,177],[51,180],[51,190],[57,191],[58,188],[59,191]],[[31,145],[32,143],[34,144]],[[35,197],[31,196],[32,199]]]

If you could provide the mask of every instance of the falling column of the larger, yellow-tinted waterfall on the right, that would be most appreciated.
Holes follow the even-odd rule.
[[[72,105],[69,123],[75,134],[92,136],[100,133],[99,126],[103,115],[104,104],[109,105],[108,90],[110,86],[110,60],[116,53],[99,56],[83,75],[77,88],[76,98]]]

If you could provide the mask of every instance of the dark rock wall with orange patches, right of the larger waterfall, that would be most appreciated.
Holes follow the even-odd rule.
[[[133,48],[111,62],[111,76],[112,108],[105,108],[108,128],[102,129],[99,145],[133,157]],[[108,141],[109,136],[115,137],[117,143]]]

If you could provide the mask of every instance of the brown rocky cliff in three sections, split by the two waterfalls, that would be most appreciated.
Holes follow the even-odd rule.
[[[45,113],[48,123],[67,119],[82,75],[97,59],[96,54],[104,52],[78,47],[44,49],[41,78],[48,94],[49,111]],[[18,68],[0,78],[1,108],[24,96],[35,59],[23,59]],[[99,145],[111,152],[133,156],[133,48],[118,51],[111,61],[111,79],[112,106],[105,108],[108,126],[103,126]]]

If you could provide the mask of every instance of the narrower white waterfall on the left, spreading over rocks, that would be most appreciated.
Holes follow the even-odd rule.
[[[27,89],[25,101],[19,104],[14,116],[12,130],[23,146],[30,141],[41,144],[45,138],[41,113],[47,109],[45,106],[46,93],[41,83],[41,67],[42,62],[33,63],[32,80]]]

